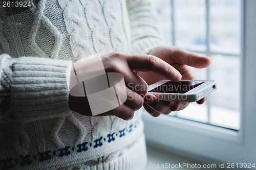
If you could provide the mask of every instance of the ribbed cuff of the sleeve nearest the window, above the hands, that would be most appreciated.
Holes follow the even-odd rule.
[[[166,43],[160,38],[142,38],[132,43],[132,53],[148,54],[153,48],[161,45],[166,45]]]

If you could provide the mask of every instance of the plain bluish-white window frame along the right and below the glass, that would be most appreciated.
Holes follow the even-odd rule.
[[[143,114],[147,144],[201,161],[256,165],[256,1],[241,2],[241,128]]]

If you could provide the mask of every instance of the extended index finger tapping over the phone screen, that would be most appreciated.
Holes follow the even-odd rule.
[[[152,55],[127,55],[126,61],[131,69],[152,71],[172,81],[180,81],[181,74],[170,64]]]

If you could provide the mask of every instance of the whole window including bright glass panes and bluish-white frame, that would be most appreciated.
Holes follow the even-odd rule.
[[[256,163],[256,1],[155,3],[166,40],[211,57],[197,74],[217,80],[219,89],[206,104],[172,116],[143,114],[147,143],[205,161]]]

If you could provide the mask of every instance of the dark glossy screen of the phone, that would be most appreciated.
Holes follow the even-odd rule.
[[[148,92],[185,93],[203,83],[204,82],[199,82],[199,81],[181,81],[181,82],[168,81]]]

